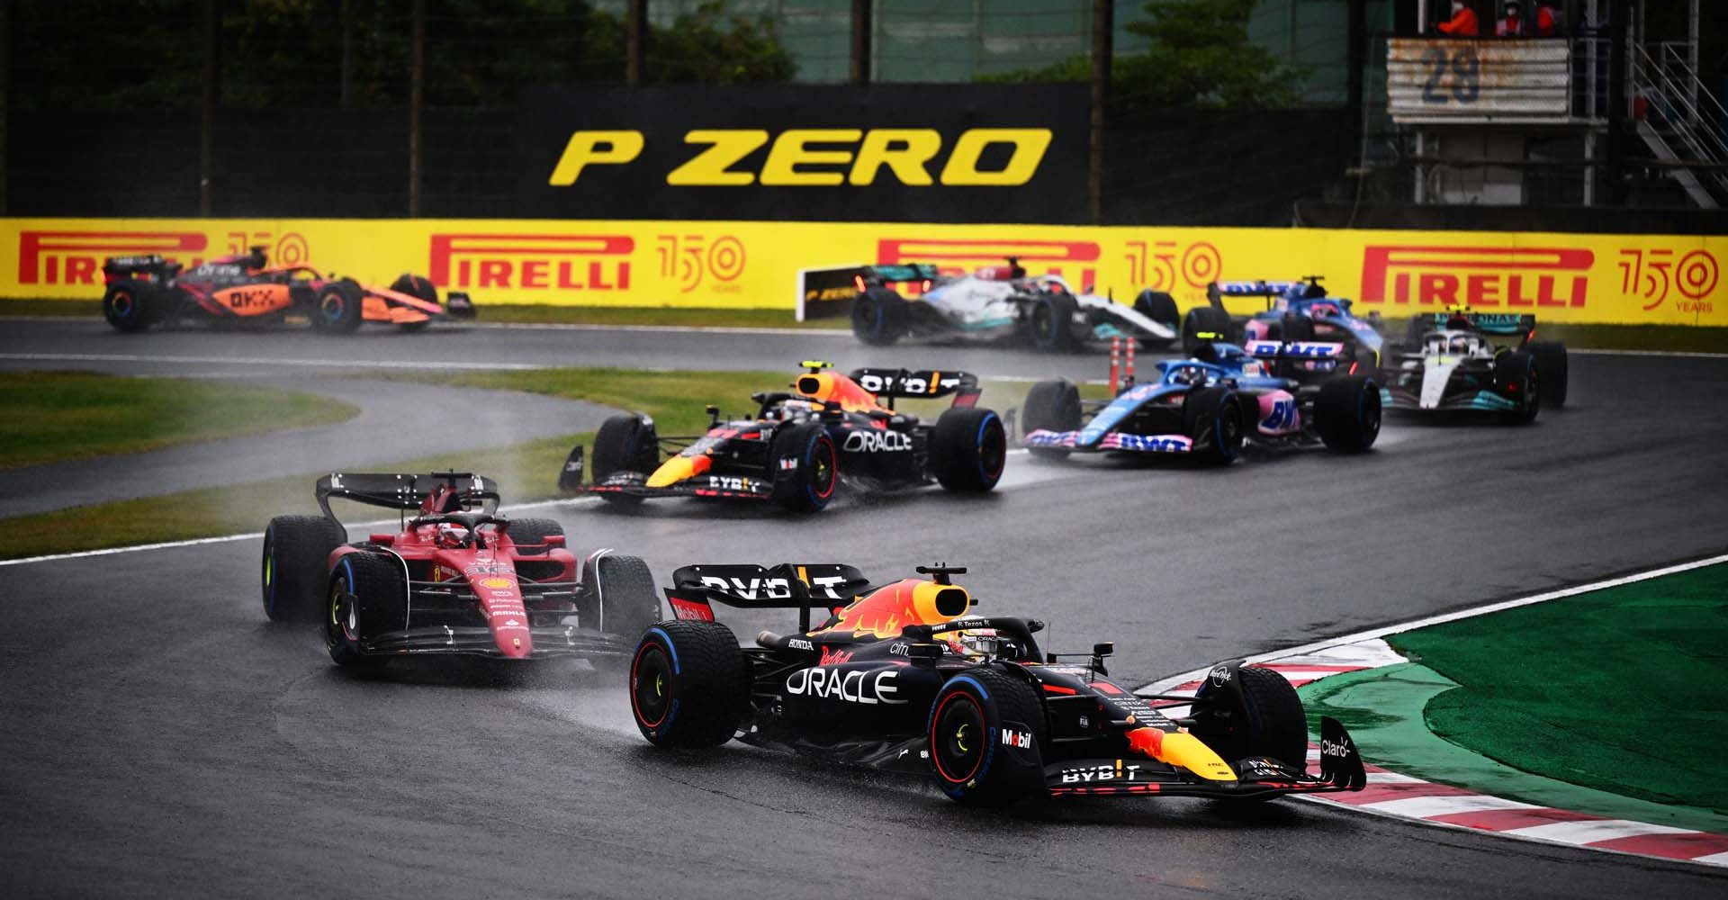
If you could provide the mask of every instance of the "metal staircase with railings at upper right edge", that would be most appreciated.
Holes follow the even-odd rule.
[[[1652,52],[1654,48],[1654,52]],[[1728,112],[1688,62],[1688,43],[1631,48],[1631,93],[1638,136],[1669,164],[1700,209],[1728,204]]]

